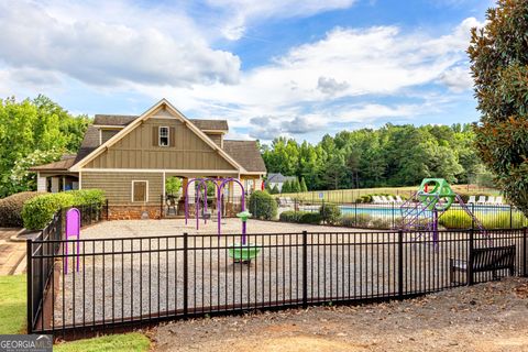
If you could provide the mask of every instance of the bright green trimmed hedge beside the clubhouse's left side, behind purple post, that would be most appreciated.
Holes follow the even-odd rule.
[[[44,229],[59,209],[105,202],[105,193],[100,189],[68,190],[58,194],[45,194],[30,199],[22,209],[24,228]]]

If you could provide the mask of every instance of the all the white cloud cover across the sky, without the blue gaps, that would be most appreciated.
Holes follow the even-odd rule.
[[[219,9],[211,19],[191,18],[187,2],[143,8],[130,0],[0,0],[0,94],[15,94],[11,87],[46,92],[74,78],[91,92],[166,97],[190,116],[229,119],[244,138],[266,140],[315,133],[334,122],[405,119],[443,102],[413,97],[416,103],[384,103],[380,97],[429,84],[459,92],[471,84],[464,51],[469,29],[480,24],[473,18],[442,36],[392,25],[336,28],[245,72],[237,55],[215,42],[237,40],[265,19],[353,3],[210,0]]]

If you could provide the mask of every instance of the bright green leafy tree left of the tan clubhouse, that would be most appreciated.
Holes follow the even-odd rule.
[[[44,96],[0,99],[0,197],[34,189],[34,175],[25,176],[23,167],[77,152],[89,122]]]

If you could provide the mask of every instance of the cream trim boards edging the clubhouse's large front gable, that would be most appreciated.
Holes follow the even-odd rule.
[[[231,157],[228,153],[226,153],[219,145],[217,145],[209,136],[207,136],[198,127],[196,127],[190,120],[188,120],[178,109],[176,109],[170,102],[166,99],[160,100],[155,103],[152,108],[146,110],[143,114],[135,118],[127,124],[121,131],[114,134],[111,139],[102,143],[101,145],[97,146],[95,150],[88,153],[82,158],[77,158],[75,164],[72,166],[72,172],[78,172],[82,166],[88,164],[90,161],[96,158],[99,154],[101,154],[105,150],[117,143],[121,140],[124,135],[127,135],[130,131],[135,129],[139,124],[142,123],[145,119],[148,119],[154,112],[158,111],[158,109],[165,107],[165,109],[169,110],[175,118],[182,120],[187,127],[195,132],[204,142],[206,142],[212,150],[217,151],[220,156],[222,156],[228,163],[233,165],[240,172],[244,172],[244,167],[240,165],[233,157]],[[101,116],[100,116],[101,117]],[[108,117],[108,116],[107,116]]]

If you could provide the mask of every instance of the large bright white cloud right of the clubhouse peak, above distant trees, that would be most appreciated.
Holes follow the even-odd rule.
[[[376,103],[376,97],[409,95],[415,87],[429,84],[447,85],[454,91],[446,77],[466,64],[469,29],[477,24],[475,19],[466,19],[440,37],[403,33],[396,26],[338,28],[319,41],[293,47],[268,65],[243,73],[237,85],[196,85],[169,97],[187,111],[227,118],[231,125],[250,129],[262,139],[273,133],[302,133],[292,132],[287,125],[305,116],[323,121],[319,129],[330,121],[366,123],[376,118],[413,117],[417,109],[431,111],[446,105],[444,99],[431,102],[421,92],[421,98],[420,94],[413,97],[416,103],[386,106]],[[154,88],[151,94],[160,97],[166,96],[165,91]],[[349,99],[374,102],[345,103],[348,111],[334,112],[339,109],[333,102]],[[273,117],[274,123],[257,125],[251,122],[255,117]]]

